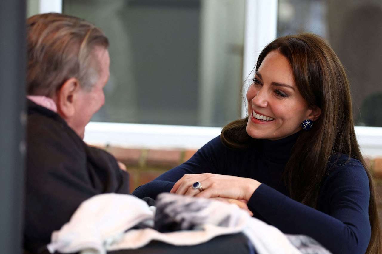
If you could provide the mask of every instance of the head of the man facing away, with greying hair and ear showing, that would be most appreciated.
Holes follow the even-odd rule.
[[[89,22],[59,13],[32,16],[27,29],[27,94],[52,98],[58,114],[83,137],[105,101],[107,37]]]

